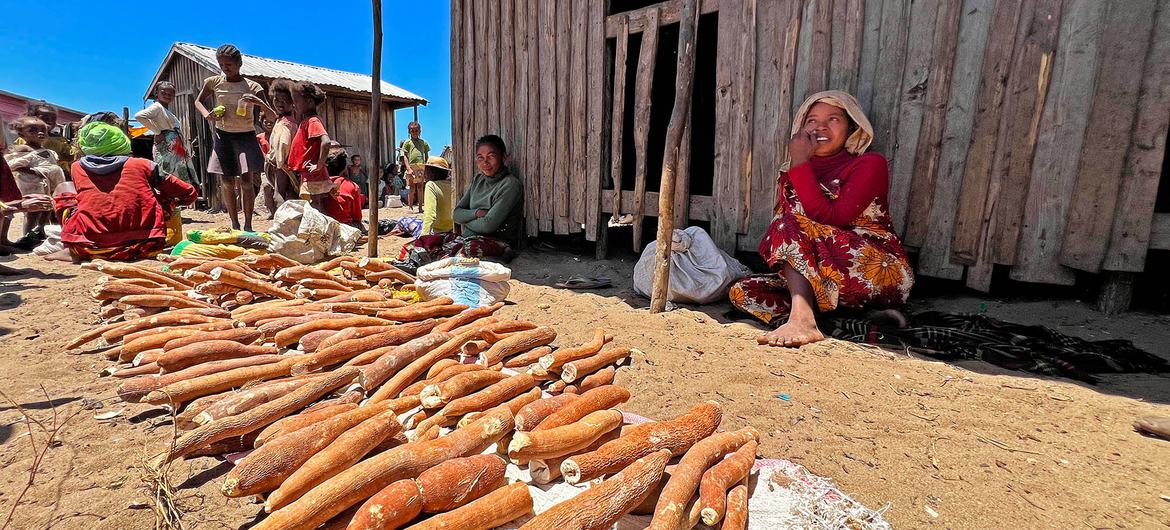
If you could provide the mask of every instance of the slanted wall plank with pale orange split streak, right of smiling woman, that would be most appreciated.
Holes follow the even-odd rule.
[[[990,260],[994,263],[1016,262],[1021,209],[1027,200],[1028,178],[1032,175],[1032,158],[1035,140],[1040,133],[1044,101],[1052,80],[1052,56],[1060,33],[1061,0],[1037,0],[1016,49],[1012,71],[1007,80],[1007,94],[1013,99],[1012,113],[1002,117],[1002,140],[992,170],[994,197],[987,200],[987,223],[983,236]]]

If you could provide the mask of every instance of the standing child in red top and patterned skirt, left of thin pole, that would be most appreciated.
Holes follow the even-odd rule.
[[[292,87],[292,106],[301,124],[289,146],[289,167],[301,177],[301,198],[318,211],[322,209],[322,200],[333,190],[325,165],[332,142],[325,132],[325,124],[317,117],[317,105],[324,102],[325,91],[316,84],[297,83]]]

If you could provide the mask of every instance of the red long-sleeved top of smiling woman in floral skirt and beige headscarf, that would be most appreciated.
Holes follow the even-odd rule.
[[[780,173],[782,183],[785,177],[808,219],[825,225],[844,227],[875,200],[882,207],[888,205],[889,168],[886,157],[879,153],[853,156],[842,150],[828,157],[813,157]],[[837,198],[830,199],[826,191]]]

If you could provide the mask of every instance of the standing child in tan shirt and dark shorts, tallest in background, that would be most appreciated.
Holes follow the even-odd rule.
[[[253,109],[260,108],[273,119],[276,118],[276,112],[264,103],[263,87],[240,75],[243,54],[239,48],[232,44],[219,47],[215,61],[223,74],[205,80],[202,90],[195,97],[195,109],[215,129],[212,135],[215,143],[207,161],[207,172],[221,177],[220,199],[232,218],[234,229],[240,229],[239,208],[235,204],[239,183],[243,229],[250,232],[256,199],[253,181],[264,166],[264,156],[256,140],[256,116]],[[205,102],[214,103],[211,110]]]

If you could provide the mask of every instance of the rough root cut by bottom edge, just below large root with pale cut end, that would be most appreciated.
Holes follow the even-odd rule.
[[[521,526],[523,530],[600,530],[629,514],[659,481],[669,450],[639,459],[621,473],[562,502]]]

